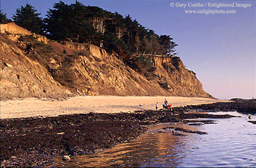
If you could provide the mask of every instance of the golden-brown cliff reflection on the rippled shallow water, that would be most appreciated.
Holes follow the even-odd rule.
[[[176,167],[185,157],[182,153],[192,136],[173,136],[171,129],[162,129],[168,126],[169,123],[148,126],[146,134],[102,153],[75,156],[71,161],[61,161],[58,157],[51,167]],[[185,124],[175,126],[195,129]]]

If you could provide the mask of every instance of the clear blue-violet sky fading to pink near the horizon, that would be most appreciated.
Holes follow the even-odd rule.
[[[184,65],[196,73],[204,90],[217,99],[256,98],[255,0],[79,1],[130,15],[157,34],[173,37]],[[11,18],[16,9],[29,3],[45,18],[56,2],[1,0],[1,9]]]

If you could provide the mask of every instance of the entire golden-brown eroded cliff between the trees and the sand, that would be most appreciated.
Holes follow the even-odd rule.
[[[29,32],[10,33],[12,28],[8,28],[0,39],[1,99],[71,95],[211,97],[179,58],[151,57],[154,70],[143,74],[95,45],[60,44]]]

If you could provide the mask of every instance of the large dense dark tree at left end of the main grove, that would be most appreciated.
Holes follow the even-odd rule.
[[[89,19],[96,8],[87,8],[80,2],[65,4],[59,1],[48,11],[45,28],[48,37],[56,40],[72,39],[72,42],[89,42],[99,45],[101,35]]]

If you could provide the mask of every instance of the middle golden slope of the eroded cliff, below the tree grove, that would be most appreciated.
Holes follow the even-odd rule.
[[[116,56],[109,55],[95,45],[89,45],[87,54],[79,55],[72,64],[50,69],[56,80],[75,93],[85,95],[153,96],[168,95],[160,85],[152,85],[146,77],[125,65]]]

